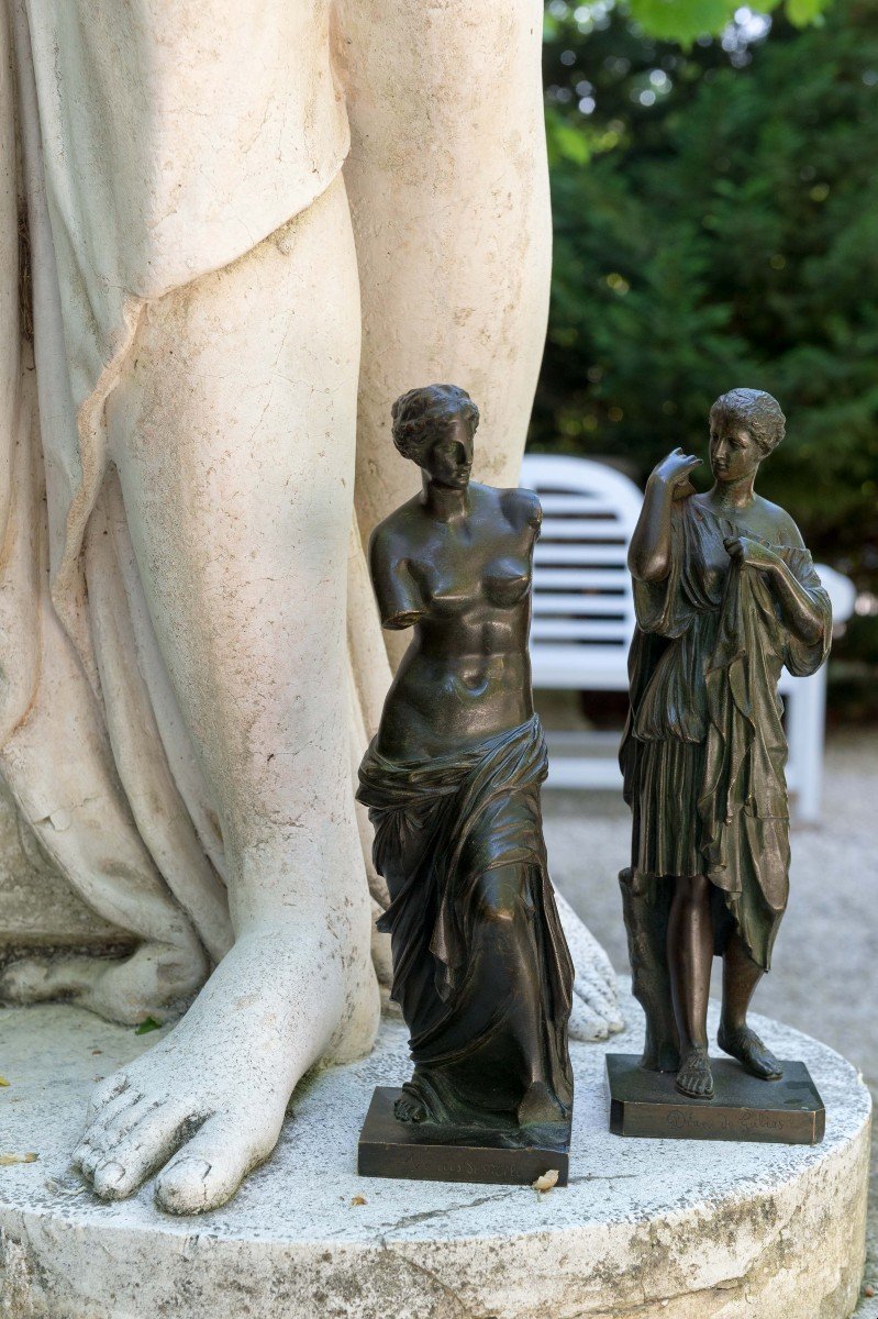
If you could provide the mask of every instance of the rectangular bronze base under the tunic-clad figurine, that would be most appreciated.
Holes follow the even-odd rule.
[[[713,1099],[689,1099],[676,1089],[674,1072],[646,1071],[634,1054],[608,1054],[610,1132],[654,1140],[819,1145],[827,1111],[811,1074],[804,1063],[782,1066],[780,1080],[759,1080],[732,1058],[712,1058]]]

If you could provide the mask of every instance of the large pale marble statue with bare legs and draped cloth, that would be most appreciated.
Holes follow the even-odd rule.
[[[221,1203],[302,1074],[370,1047],[352,762],[390,669],[355,479],[364,534],[413,488],[388,400],[442,371],[515,484],[539,38],[538,0],[0,8],[0,766],[137,939],[20,960],[0,993],[136,1022],[203,985],[95,1092],[76,1158],[105,1198],[160,1171],[161,1207]],[[563,918],[588,1038],[608,966]]]

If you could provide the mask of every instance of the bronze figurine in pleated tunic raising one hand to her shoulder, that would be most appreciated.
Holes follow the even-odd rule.
[[[784,665],[815,673],[832,628],[795,522],[754,491],[784,426],[770,394],[717,398],[713,487],[695,493],[699,459],[670,454],[650,476],[629,551],[637,630],[621,765],[633,847],[620,880],[646,1013],[641,1066],[676,1072],[676,1089],[695,1100],[715,1095],[715,954],[724,962],[720,1049],[763,1082],[783,1074],[747,1024],[788,893],[778,678]],[[749,1138],[744,1126],[738,1138]]]

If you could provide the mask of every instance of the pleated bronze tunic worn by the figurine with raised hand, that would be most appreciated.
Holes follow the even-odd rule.
[[[692,497],[674,505],[668,576],[634,584],[620,761],[634,813],[634,884],[657,900],[657,878],[705,874],[717,952],[736,929],[767,971],[790,886],[778,679],[784,666],[798,677],[820,667],[832,608],[808,551],[774,545],[823,619],[820,641],[802,641],[766,575],[728,557],[724,538],[740,534]]]

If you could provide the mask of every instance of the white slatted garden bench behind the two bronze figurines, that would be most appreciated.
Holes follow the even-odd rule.
[[[584,458],[529,454],[521,484],[539,495],[543,530],[534,559],[530,654],[534,687],[625,691],[634,598],[628,545],[642,495],[626,476]],[[833,620],[849,619],[854,587],[817,565]],[[799,820],[820,816],[827,707],[825,665],[811,678],[786,669],[779,690],[787,704],[787,782]],[[790,699],[792,698],[792,699]],[[616,758],[554,756],[548,787],[621,787]]]

